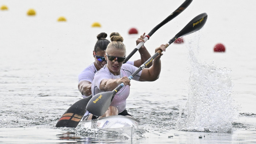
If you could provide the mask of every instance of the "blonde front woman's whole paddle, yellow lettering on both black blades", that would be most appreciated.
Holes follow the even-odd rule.
[[[165,48],[167,48],[171,43],[173,43],[178,37],[185,36],[188,34],[191,34],[195,31],[200,30],[207,20],[207,14],[203,13],[195,18],[193,18],[179,33],[177,33],[168,43],[165,44]],[[161,53],[162,50],[158,50],[152,57],[150,57],[144,64],[142,64],[134,73],[132,73],[131,76],[128,78],[131,80],[138,72],[140,72],[143,68],[145,68],[155,57],[158,56],[159,53]],[[116,93],[124,87],[124,84],[121,83],[118,87],[116,87],[113,91],[107,91],[107,92],[101,92],[99,94],[96,94],[93,96],[93,98],[90,99],[88,102],[86,109],[97,116],[103,115],[106,110],[108,110],[108,107],[110,106],[110,103],[112,102],[112,99],[116,95]]]

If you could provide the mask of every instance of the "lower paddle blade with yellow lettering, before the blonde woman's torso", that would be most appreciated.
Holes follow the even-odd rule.
[[[107,91],[94,95],[93,98],[88,102],[86,110],[93,115],[103,115],[108,110],[111,104],[111,99],[115,94],[116,92],[114,91]]]

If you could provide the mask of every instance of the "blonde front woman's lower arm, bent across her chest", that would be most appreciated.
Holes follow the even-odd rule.
[[[127,76],[124,76],[120,79],[103,79],[101,84],[99,84],[99,89],[102,91],[112,91],[121,83],[124,83],[125,86],[130,86],[130,80]]]

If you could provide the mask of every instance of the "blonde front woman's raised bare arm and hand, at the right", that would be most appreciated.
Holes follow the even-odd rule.
[[[165,51],[164,45],[161,45],[160,47],[155,49],[155,52],[157,52],[159,49],[162,51]],[[153,60],[153,65],[150,68],[144,68],[142,69],[142,73],[140,76],[139,81],[155,81],[159,78],[160,72],[161,72],[161,56],[163,53],[160,53],[155,59]]]

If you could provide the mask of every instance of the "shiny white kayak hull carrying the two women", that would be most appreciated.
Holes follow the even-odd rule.
[[[129,138],[135,136],[139,125],[138,120],[123,115],[103,117],[96,120],[80,121],[83,128],[101,129],[123,133]]]

